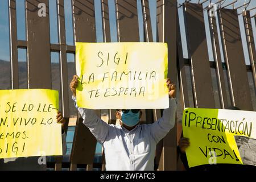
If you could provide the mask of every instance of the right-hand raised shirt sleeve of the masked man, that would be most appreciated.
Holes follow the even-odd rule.
[[[150,133],[155,142],[158,143],[175,125],[176,99],[169,99],[169,108],[164,109],[163,117],[150,125]]]

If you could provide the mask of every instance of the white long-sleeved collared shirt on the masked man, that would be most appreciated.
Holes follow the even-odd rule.
[[[156,144],[175,125],[175,99],[170,99],[169,108],[164,109],[163,117],[158,121],[137,125],[129,131],[122,126],[108,125],[97,117],[94,110],[78,107],[76,97],[72,98],[84,125],[104,147],[106,170],[154,170]]]

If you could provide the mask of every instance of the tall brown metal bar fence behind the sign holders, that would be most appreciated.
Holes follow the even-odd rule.
[[[115,0],[115,17],[118,42],[139,42],[138,11],[143,15],[144,40],[153,41],[149,0],[141,1],[138,10],[136,0]],[[75,54],[75,46],[67,44],[64,0],[57,2],[58,43],[50,41],[49,1],[26,0],[26,40],[18,40],[16,23],[16,1],[9,0],[10,29],[10,89],[19,89],[18,49],[27,50],[27,88],[52,89],[51,52],[59,53],[60,108],[67,123],[73,114],[69,81],[74,73],[69,71],[67,53]],[[200,1],[199,1],[200,2]],[[206,3],[207,1],[204,1]],[[39,16],[39,3],[46,5],[46,16]],[[74,42],[96,42],[96,13],[93,0],[72,0]],[[209,3],[209,2],[208,2]],[[237,10],[217,9],[217,16],[209,16],[210,42],[213,59],[209,60],[204,11],[201,3],[186,1],[178,5],[176,0],[156,1],[156,25],[158,42],[168,43],[168,77],[179,85],[179,109],[177,125],[162,139],[156,149],[155,169],[180,169],[177,163],[177,138],[180,137],[180,118],[184,107],[207,107],[225,109],[230,105],[242,110],[256,110],[255,44],[249,11],[243,12],[246,43],[250,65],[245,64]],[[188,59],[183,56],[178,7],[183,9]],[[111,42],[108,0],[101,0],[102,32],[104,42]],[[254,17],[253,17],[254,18]],[[216,21],[217,20],[217,21]],[[220,30],[220,31],[218,31]],[[221,38],[221,39],[219,39]],[[221,41],[220,41],[221,40]],[[221,53],[224,60],[221,59]],[[151,123],[161,116],[160,110],[144,110],[143,121]],[[97,110],[101,117],[101,111]],[[73,117],[73,116],[72,116]],[[113,110],[108,110],[109,123],[115,123]],[[177,130],[178,129],[178,130]],[[96,139],[77,117],[75,135],[68,166],[76,170],[77,165],[86,164],[92,170]],[[62,158],[56,158],[55,169],[60,170]],[[22,163],[17,165],[23,165]],[[100,166],[100,167],[99,167]],[[98,168],[105,169],[104,158]]]

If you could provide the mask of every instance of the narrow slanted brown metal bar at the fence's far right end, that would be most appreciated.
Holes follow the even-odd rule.
[[[254,86],[256,88],[256,49],[255,43],[253,38],[253,27],[251,24],[250,12],[243,11],[243,21],[245,23],[245,34],[247,40],[247,46],[249,49],[249,59],[251,64],[251,69],[253,71],[253,79],[254,79]]]

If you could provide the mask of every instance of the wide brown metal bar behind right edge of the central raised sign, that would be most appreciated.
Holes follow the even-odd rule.
[[[168,44],[168,77],[176,84],[176,23],[177,23],[177,2],[175,0],[160,0],[157,2],[157,23],[158,42]],[[160,153],[160,170],[177,169],[177,131],[176,122],[174,128],[164,137],[158,145],[157,153]],[[171,155],[170,155],[171,154]],[[158,156],[156,156],[158,158]],[[157,159],[158,160],[158,159]]]

